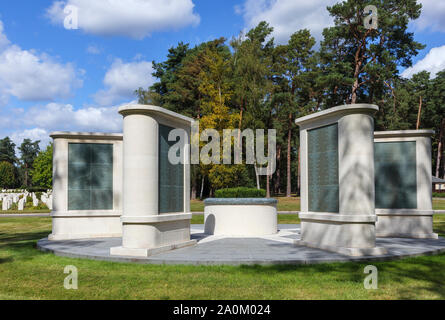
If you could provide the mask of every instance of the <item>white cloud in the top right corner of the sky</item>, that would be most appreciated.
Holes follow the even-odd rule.
[[[414,26],[422,30],[445,32],[445,1],[420,0],[422,14],[413,22]]]

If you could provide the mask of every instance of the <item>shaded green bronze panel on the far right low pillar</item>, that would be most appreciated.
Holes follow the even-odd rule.
[[[375,206],[417,209],[415,141],[375,143]]]

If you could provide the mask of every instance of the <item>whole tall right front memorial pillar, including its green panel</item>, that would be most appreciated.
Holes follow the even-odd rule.
[[[381,255],[375,245],[375,105],[355,104],[299,118],[301,240],[349,256]]]

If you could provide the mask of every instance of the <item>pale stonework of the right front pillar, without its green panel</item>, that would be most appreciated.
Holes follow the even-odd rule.
[[[350,256],[385,254],[375,244],[374,105],[355,104],[299,118],[301,239],[297,245]],[[338,212],[310,212],[309,131],[338,125]],[[324,159],[328,161],[328,159]]]

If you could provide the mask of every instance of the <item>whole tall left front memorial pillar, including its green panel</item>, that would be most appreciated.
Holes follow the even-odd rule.
[[[190,128],[193,119],[148,105],[121,107],[124,117],[122,246],[111,255],[150,256],[196,243],[190,240]],[[182,129],[182,164],[168,153]],[[179,152],[179,151],[178,151]]]

